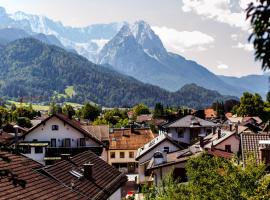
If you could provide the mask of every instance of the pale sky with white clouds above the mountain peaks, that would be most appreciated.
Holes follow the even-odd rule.
[[[169,51],[216,74],[261,74],[247,38],[252,0],[0,0],[8,13],[45,15],[65,25],[147,21]]]

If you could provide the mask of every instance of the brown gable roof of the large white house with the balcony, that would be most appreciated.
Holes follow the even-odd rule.
[[[29,134],[31,131],[33,131],[34,129],[36,129],[40,125],[44,124],[46,121],[48,121],[49,119],[51,119],[53,117],[57,117],[58,119],[60,119],[63,122],[67,123],[68,125],[70,125],[74,129],[76,129],[77,131],[81,132],[86,137],[90,137],[91,139],[93,139],[98,144],[104,146],[104,144],[100,140],[98,140],[96,137],[93,137],[88,131],[86,131],[85,129],[83,129],[82,126],[80,125],[80,122],[79,121],[75,121],[73,119],[69,119],[66,115],[63,115],[63,114],[53,114],[53,115],[47,117],[46,119],[44,119],[43,121],[41,121],[36,126],[30,128],[24,135]]]

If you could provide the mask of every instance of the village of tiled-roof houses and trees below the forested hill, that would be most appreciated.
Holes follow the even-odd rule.
[[[2,159],[0,169],[16,174],[16,185],[25,184],[14,187],[7,175],[0,182],[6,188],[0,196],[143,199],[142,188],[158,186],[166,176],[187,182],[186,164],[201,154],[237,158],[243,167],[252,154],[269,171],[269,120],[224,110],[223,115],[217,105],[175,109],[170,114],[161,104],[153,110],[138,104],[130,109],[104,108],[100,113],[89,109],[95,108],[91,104],[75,110],[53,104],[49,111],[13,105],[17,115],[13,122],[5,120],[10,117],[2,110],[0,155],[10,162]],[[22,119],[31,112],[35,114],[29,126]],[[78,112],[83,113],[80,118]]]

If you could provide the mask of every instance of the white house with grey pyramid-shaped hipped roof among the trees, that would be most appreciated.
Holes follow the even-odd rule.
[[[165,133],[167,133],[173,140],[192,144],[199,140],[199,137],[204,137],[216,129],[217,124],[187,115],[174,122],[163,126]]]

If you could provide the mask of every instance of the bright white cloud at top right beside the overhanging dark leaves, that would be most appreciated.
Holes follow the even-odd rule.
[[[251,0],[240,0],[238,5],[241,11],[233,12],[230,0],[183,0],[182,10],[248,30],[244,10],[250,2]]]

